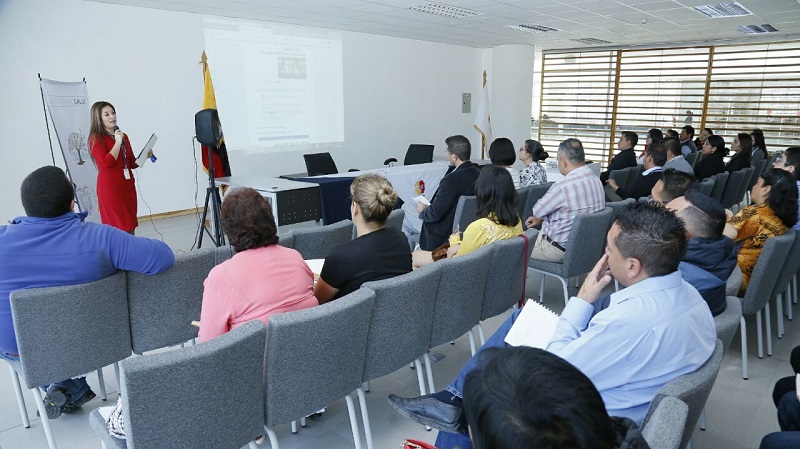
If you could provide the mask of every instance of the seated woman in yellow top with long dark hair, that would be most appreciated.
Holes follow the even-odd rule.
[[[483,245],[522,234],[522,220],[515,207],[517,191],[507,170],[496,165],[483,167],[475,182],[475,195],[478,219],[467,226],[463,239],[458,231],[450,236],[448,257],[463,256]],[[417,268],[433,262],[430,251],[414,251],[413,258]]]

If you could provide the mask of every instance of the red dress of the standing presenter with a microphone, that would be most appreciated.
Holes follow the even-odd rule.
[[[114,147],[114,137],[106,134],[92,138],[89,151],[97,164],[97,203],[100,220],[123,231],[133,231],[136,221],[136,183],[131,169],[138,167],[128,136],[123,137],[124,153],[120,149],[114,159],[109,152]],[[125,178],[124,172],[128,172]]]

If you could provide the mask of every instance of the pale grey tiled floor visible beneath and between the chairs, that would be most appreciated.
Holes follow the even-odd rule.
[[[198,221],[199,218],[194,215],[156,220],[152,224],[142,223],[137,233],[144,237],[163,239],[176,252],[189,251],[196,240]],[[300,226],[313,225],[315,224],[307,223]],[[211,242],[206,236],[203,246],[210,245]],[[538,293],[539,277],[531,275],[527,288],[531,294]],[[570,291],[574,293],[574,287]],[[550,279],[546,282],[545,303],[556,311],[563,308],[558,281]],[[491,334],[505,317],[504,314],[485,323],[487,335]],[[778,430],[775,407],[771,399],[772,386],[778,378],[791,374],[789,353],[795,345],[800,344],[800,326],[787,322],[786,335],[781,340],[774,340],[773,356],[764,359],[758,359],[755,354],[755,323],[752,319],[748,321],[748,328],[753,329],[748,332],[751,337],[750,379],[743,380],[741,377],[741,346],[737,333],[722,362],[722,369],[706,406],[708,430],[698,429],[694,433],[692,446],[695,449],[752,449],[758,447],[764,434]],[[435,348],[433,352],[446,356],[433,367],[436,387],[441,388],[452,380],[467,360],[469,344],[465,337],[461,337],[455,345],[445,344]],[[95,437],[89,426],[88,416],[95,407],[109,405],[117,397],[113,369],[107,368],[104,373],[109,394],[107,402],[95,399],[84,406],[83,410],[64,415],[52,422],[53,432],[60,448],[101,447],[100,440]],[[97,376],[91,375],[89,383],[96,386]],[[406,437],[433,442],[436,437],[435,431],[426,432],[422,426],[401,417],[391,409],[386,402],[389,393],[401,396],[418,395],[416,373],[409,367],[404,367],[371,383],[367,403],[375,448],[397,448]],[[25,396],[31,420],[29,429],[22,427],[9,370],[5,367],[0,368],[0,448],[47,447],[41,423],[36,418],[33,396],[30,392],[25,392]],[[353,447],[344,401],[332,404],[321,417],[309,419],[308,426],[296,435],[291,434],[288,425],[279,427],[277,434],[281,447],[285,449]],[[266,445],[267,443],[264,443],[264,447]]]

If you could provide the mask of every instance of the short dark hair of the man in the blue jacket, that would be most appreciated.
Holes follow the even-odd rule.
[[[48,165],[22,181],[22,207],[29,217],[54,218],[71,211],[75,189],[64,170]]]

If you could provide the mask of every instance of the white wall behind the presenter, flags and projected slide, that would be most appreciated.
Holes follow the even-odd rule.
[[[86,77],[90,101],[115,105],[134,148],[158,134],[158,163],[138,177],[153,213],[202,202],[205,174],[191,139],[202,102],[197,62],[204,17],[79,0],[0,1],[0,220],[23,214],[22,179],[51,163],[37,73],[60,81]],[[442,153],[452,134],[479,147],[473,114],[461,113],[461,93],[478,98],[481,50],[352,32],[343,32],[343,42],[347,142],[333,153],[340,170],[402,159],[409,143],[432,143]],[[233,157],[231,166],[234,174],[304,171],[299,153],[263,155],[247,164]],[[140,201],[139,214],[148,212]]]

